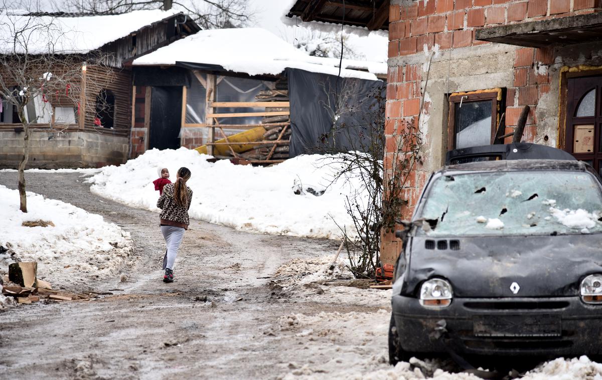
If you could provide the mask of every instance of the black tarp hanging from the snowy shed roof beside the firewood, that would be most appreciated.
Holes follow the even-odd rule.
[[[332,149],[367,151],[384,121],[385,82],[287,69],[290,157]]]

